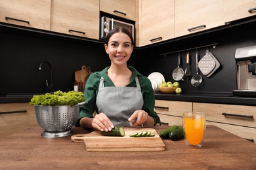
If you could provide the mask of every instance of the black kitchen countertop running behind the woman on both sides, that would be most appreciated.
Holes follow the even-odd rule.
[[[23,93],[15,95],[0,95],[0,103],[26,103],[34,94]],[[251,105],[256,106],[256,97],[238,97],[232,93],[155,93],[158,100],[190,101],[199,103],[219,103],[229,105]]]

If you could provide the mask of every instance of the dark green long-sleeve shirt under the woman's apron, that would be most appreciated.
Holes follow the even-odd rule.
[[[155,96],[150,80],[146,76],[141,75],[135,68],[131,66],[128,66],[128,68],[132,71],[132,75],[130,83],[127,85],[127,87],[136,87],[135,77],[138,76],[140,82],[140,89],[144,101],[142,110],[146,111],[149,116],[154,118],[155,126],[161,124],[158,114],[156,114],[156,112],[154,111]],[[95,110],[98,113],[98,109],[96,107],[96,96],[98,94],[98,86],[100,84],[100,78],[102,76],[104,78],[105,87],[115,86],[112,80],[110,80],[110,78],[107,75],[108,69],[109,67],[106,67],[104,70],[92,73],[89,76],[85,85],[84,93],[85,100],[88,103],[80,107],[79,120],[83,117],[93,118],[93,113],[95,112]],[[117,105],[117,103],[113,103],[113,105]],[[76,126],[80,126],[79,120]]]

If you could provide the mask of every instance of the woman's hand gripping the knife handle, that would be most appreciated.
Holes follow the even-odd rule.
[[[136,122],[133,124],[133,126],[154,126],[154,119],[150,116],[148,116],[148,113],[144,110],[136,110],[128,119],[128,121],[131,121],[133,119],[137,118]]]

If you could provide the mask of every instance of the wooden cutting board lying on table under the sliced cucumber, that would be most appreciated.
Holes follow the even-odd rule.
[[[153,128],[125,127],[124,137],[103,136],[99,131],[88,134],[72,135],[71,141],[85,143],[87,151],[93,152],[127,152],[127,151],[162,151],[165,144]],[[129,137],[131,133],[151,131],[154,137]]]

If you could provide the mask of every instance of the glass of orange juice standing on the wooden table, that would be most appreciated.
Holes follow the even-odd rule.
[[[201,148],[205,132],[205,114],[202,112],[184,112],[184,139],[188,146]]]

